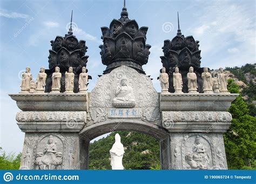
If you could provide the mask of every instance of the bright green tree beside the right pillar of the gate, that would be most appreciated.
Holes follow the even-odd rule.
[[[238,93],[239,87],[228,80],[228,90]],[[248,107],[241,94],[235,99],[228,112],[232,114],[230,129],[224,134],[226,158],[229,169],[255,168],[256,118],[248,115]]]

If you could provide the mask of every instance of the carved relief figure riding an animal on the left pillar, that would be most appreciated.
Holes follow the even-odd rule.
[[[53,169],[56,165],[56,143],[53,142],[52,135],[49,136],[48,142],[46,143],[42,156],[43,169]]]

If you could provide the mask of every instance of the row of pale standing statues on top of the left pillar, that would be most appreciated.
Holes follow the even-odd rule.
[[[59,67],[55,67],[55,72],[52,73],[52,88],[51,93],[60,92],[60,79],[62,73],[59,72]],[[20,93],[44,93],[44,87],[46,85],[46,77],[44,67],[41,67],[40,72],[37,75],[36,81],[33,80],[30,73],[30,67],[26,67],[26,71],[22,73],[21,92]],[[65,93],[73,93],[75,74],[73,68],[69,67],[69,71],[65,73]],[[86,93],[87,91],[88,74],[86,68],[82,67],[82,73],[79,74],[79,93]]]

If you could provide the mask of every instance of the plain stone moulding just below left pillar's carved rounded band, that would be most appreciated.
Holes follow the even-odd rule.
[[[79,132],[84,122],[17,122],[22,132]]]

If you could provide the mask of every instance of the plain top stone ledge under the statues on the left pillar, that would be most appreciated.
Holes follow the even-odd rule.
[[[86,111],[88,94],[9,94],[22,111]]]

